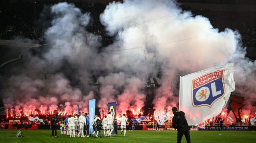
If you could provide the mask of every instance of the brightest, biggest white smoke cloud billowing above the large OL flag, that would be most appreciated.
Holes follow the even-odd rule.
[[[255,82],[255,63],[244,59],[246,53],[239,43],[239,33],[228,28],[219,32],[208,18],[182,12],[175,1],[113,2],[100,18],[110,35],[117,34],[112,49],[142,47],[118,52],[113,56],[118,58],[108,59],[107,63],[117,63],[123,69],[129,67],[127,71],[139,77],[143,77],[140,71],[144,70],[147,77],[161,69],[162,83],[153,101],[158,111],[171,113],[171,107],[178,105],[179,76],[223,63],[235,63],[238,86],[255,90],[250,87]],[[255,97],[255,92],[252,94],[248,97]]]

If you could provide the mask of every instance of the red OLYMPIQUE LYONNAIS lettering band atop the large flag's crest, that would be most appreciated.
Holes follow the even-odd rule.
[[[223,77],[223,73],[224,73],[223,70],[217,71],[217,72],[212,72],[212,73],[208,73],[208,74],[206,74],[204,76],[201,76],[201,77],[193,80],[193,89],[197,88],[197,87],[199,87],[201,85],[204,85],[205,83],[213,81],[215,79],[222,78]]]

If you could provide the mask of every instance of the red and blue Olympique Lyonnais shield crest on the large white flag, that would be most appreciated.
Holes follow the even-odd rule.
[[[211,106],[225,94],[224,70],[207,73],[192,80],[192,105]]]

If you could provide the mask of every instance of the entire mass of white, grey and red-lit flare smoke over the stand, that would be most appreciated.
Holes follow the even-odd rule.
[[[107,102],[117,102],[118,114],[129,110],[138,116],[146,100],[143,85],[159,73],[153,106],[172,115],[171,108],[179,104],[179,76],[224,63],[235,63],[236,91],[248,99],[246,114],[256,110],[250,100],[256,98],[256,66],[245,58],[238,31],[219,31],[208,18],[182,11],[174,0],[124,0],[109,3],[100,15],[108,34],[115,37],[113,44],[102,47],[100,35],[85,30],[94,20],[89,13],[66,2],[46,8],[50,14],[41,15],[52,18],[44,35],[50,48],[29,59],[55,74],[47,79],[12,76],[9,88],[2,91],[7,115],[74,114],[77,104],[81,112],[88,112],[88,100],[98,98],[102,114]],[[71,85],[65,71],[83,79],[83,87]],[[89,84],[95,76],[99,87]]]

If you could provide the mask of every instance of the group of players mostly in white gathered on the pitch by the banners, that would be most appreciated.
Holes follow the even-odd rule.
[[[85,116],[84,116],[85,115]],[[124,136],[126,134],[126,124],[127,124],[127,118],[125,117],[125,114],[123,114],[123,116],[121,117],[121,134],[124,131]],[[92,133],[92,135],[94,134],[94,138],[98,137],[98,133],[100,134],[100,138],[101,138],[101,128],[103,126],[104,129],[104,136],[106,137],[112,137],[111,133],[113,131],[113,116],[111,115],[111,113],[109,112],[107,116],[105,116],[105,118],[101,121],[101,119],[95,115],[95,118],[92,122],[92,127],[94,129],[94,132]],[[84,112],[82,112],[81,116],[75,115],[74,117],[71,117],[71,115],[69,115],[66,119],[65,119],[65,128],[66,128],[66,132],[67,135],[69,135],[70,137],[89,137],[89,117],[87,116],[87,113],[84,114]],[[87,136],[86,133],[84,135],[83,130],[87,131]],[[79,130],[79,132],[77,133],[77,131]]]

